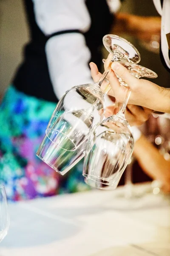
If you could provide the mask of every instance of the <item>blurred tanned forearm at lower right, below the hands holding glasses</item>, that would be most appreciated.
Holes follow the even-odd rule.
[[[135,143],[133,154],[147,175],[163,184],[170,184],[170,161],[165,160],[143,135]]]

